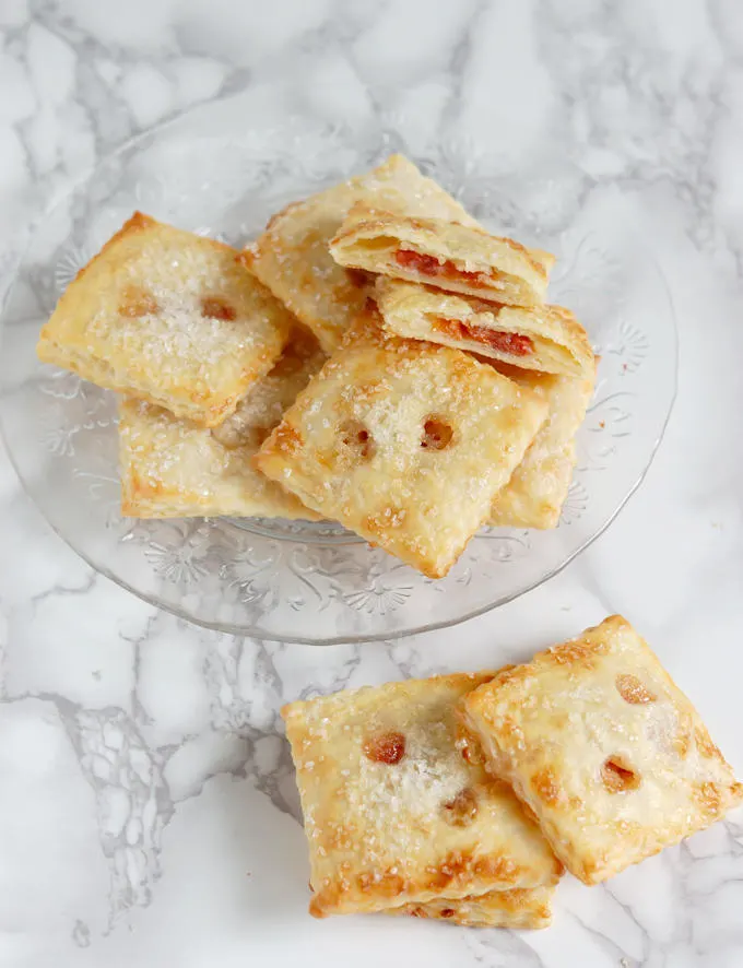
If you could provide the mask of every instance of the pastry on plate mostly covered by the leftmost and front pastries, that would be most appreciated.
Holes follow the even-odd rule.
[[[122,401],[121,513],[318,520],[293,494],[259,473],[252,458],[323,359],[315,338],[297,332],[271,373],[250,388],[232,416],[211,430],[160,406]]]

